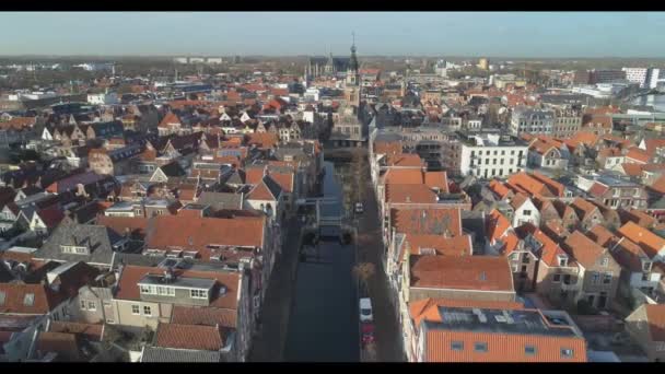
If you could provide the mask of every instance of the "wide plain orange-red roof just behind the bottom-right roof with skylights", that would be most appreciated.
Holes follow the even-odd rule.
[[[514,292],[504,257],[411,256],[412,288]]]

